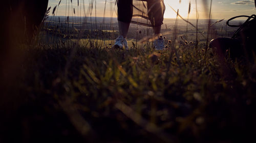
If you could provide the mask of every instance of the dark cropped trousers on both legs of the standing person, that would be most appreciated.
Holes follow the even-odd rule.
[[[147,2],[147,15],[148,18],[150,18],[152,26],[161,26],[164,14],[164,8],[161,5],[161,0],[145,1]],[[118,21],[130,23],[133,16],[133,0],[118,0],[117,8]]]

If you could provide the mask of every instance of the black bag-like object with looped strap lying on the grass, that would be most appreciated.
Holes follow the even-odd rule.
[[[230,25],[229,21],[238,17],[248,17],[241,25]],[[227,21],[231,27],[239,27],[231,38],[216,38],[210,41],[209,47],[216,48],[219,56],[228,56],[231,59],[245,56],[253,60],[256,53],[256,15],[236,16]]]

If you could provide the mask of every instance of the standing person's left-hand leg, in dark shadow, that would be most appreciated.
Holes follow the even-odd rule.
[[[119,34],[126,38],[129,26],[133,16],[132,0],[118,0],[117,13],[118,13],[118,26]]]

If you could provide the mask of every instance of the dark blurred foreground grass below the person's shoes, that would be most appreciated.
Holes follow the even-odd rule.
[[[179,45],[176,57],[88,42],[23,47],[4,141],[255,141],[254,64],[220,63],[203,44]]]

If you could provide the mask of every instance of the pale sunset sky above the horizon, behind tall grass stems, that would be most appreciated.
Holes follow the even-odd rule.
[[[50,15],[52,15],[53,8],[57,6],[59,2],[60,0],[49,0],[48,7],[51,7]],[[188,15],[189,2],[191,3],[191,8]],[[196,5],[196,0],[164,0],[166,7],[164,18],[176,18],[176,13],[173,9],[176,11],[179,9],[179,14],[184,18],[187,18],[187,16],[189,16],[191,19],[196,18],[197,6],[199,18],[206,19],[209,17],[210,0],[206,0],[205,2],[207,2],[207,4],[203,3],[203,0],[197,0]],[[93,3],[92,11],[90,11],[90,3]],[[103,17],[104,7],[105,17],[117,17],[117,7],[115,6],[115,0],[96,0],[96,16]],[[55,10],[55,15],[84,16],[83,8],[85,9],[86,16],[95,16],[95,0],[73,0],[72,4],[71,0],[61,0],[58,9]],[[82,11],[80,11],[80,9],[82,9]],[[256,8],[254,6],[254,0],[212,0],[211,13],[212,19],[229,19],[237,15],[255,14]]]

